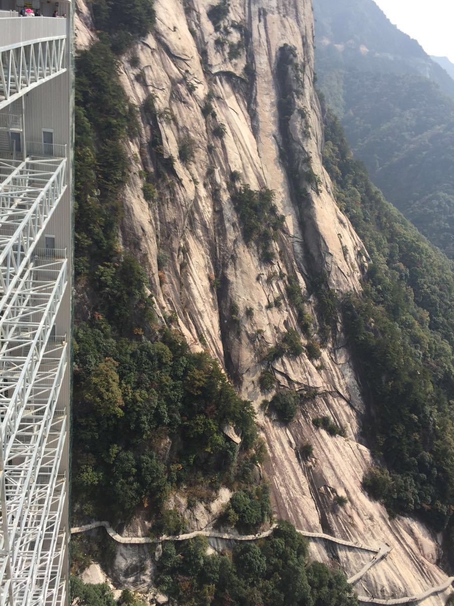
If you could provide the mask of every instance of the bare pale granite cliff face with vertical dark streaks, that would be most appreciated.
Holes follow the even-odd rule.
[[[140,110],[140,136],[128,143],[131,176],[123,194],[123,246],[147,268],[157,310],[176,314],[191,347],[203,345],[219,359],[241,395],[256,405],[268,445],[266,473],[276,516],[297,528],[391,545],[387,559],[358,582],[358,593],[383,598],[421,593],[446,579],[437,566],[439,545],[419,522],[390,520],[386,510],[361,488],[371,462],[361,433],[365,404],[340,319],[334,338],[322,346],[316,362],[303,353],[272,364],[278,384],[315,394],[295,421],[284,427],[259,409],[265,396],[258,378],[266,368],[266,350],[289,328],[300,332],[285,275],[297,276],[303,295],[309,298],[317,340],[314,279],[325,275],[338,295],[360,291],[361,268],[368,259],[338,209],[321,165],[323,126],[313,82],[311,2],[232,0],[226,19],[230,32],[223,44],[207,16],[211,2],[187,0],[184,4],[156,0],[153,34],[134,45],[121,61],[120,79],[131,101],[143,108],[153,93],[155,108],[153,117]],[[77,44],[84,48],[96,39],[96,33],[82,0],[77,2],[77,17]],[[236,24],[245,25],[243,33]],[[239,44],[239,56],[232,59],[236,53],[229,50],[242,41],[244,50]],[[288,65],[282,59],[289,56],[297,75],[295,69],[282,67]],[[210,92],[216,118],[202,112]],[[280,104],[283,96],[291,98],[286,112]],[[220,123],[225,125],[221,138],[213,134]],[[151,203],[143,198],[140,175],[153,170],[149,142],[157,129],[163,157],[173,156],[175,162],[168,184]],[[179,147],[189,137],[194,140],[194,157],[183,163]],[[316,187],[306,184],[309,193],[301,199],[298,192],[304,183],[295,182],[291,167],[307,168],[308,154],[320,181]],[[245,244],[228,187],[232,171],[238,171],[241,181],[253,190],[275,191],[285,225],[272,243],[275,258],[271,264],[263,264],[255,244]],[[157,258],[163,254],[168,261],[158,268]],[[280,305],[271,307],[275,300]],[[240,310],[239,322],[232,321],[232,304]],[[253,317],[246,316],[249,307]],[[315,429],[311,419],[322,415],[344,425],[346,436],[331,437]],[[303,442],[314,446],[308,462],[297,456]],[[336,494],[347,496],[345,507],[334,505]],[[191,522],[200,527],[209,521],[209,516],[201,516],[199,522]],[[137,534],[137,528],[131,534]],[[370,554],[334,548],[323,541],[312,542],[311,548],[317,559],[337,562],[347,576],[370,559]],[[143,546],[135,556],[134,546],[118,549],[118,561],[126,552],[129,564],[131,558],[145,558]],[[116,574],[117,580],[121,576]],[[123,582],[146,585],[143,578],[127,574]],[[433,596],[424,604],[444,604],[446,596],[447,592]]]

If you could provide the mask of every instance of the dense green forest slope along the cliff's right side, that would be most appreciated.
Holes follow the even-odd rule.
[[[324,165],[371,257],[363,296],[343,302],[369,438],[389,468],[364,483],[392,513],[417,511],[441,529],[454,505],[452,262],[384,200],[325,105],[324,124]]]

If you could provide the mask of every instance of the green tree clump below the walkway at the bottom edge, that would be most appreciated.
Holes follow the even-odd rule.
[[[340,571],[308,561],[308,544],[288,522],[271,537],[239,542],[231,552],[206,554],[208,541],[166,542],[157,564],[157,585],[177,604],[194,606],[356,606]]]

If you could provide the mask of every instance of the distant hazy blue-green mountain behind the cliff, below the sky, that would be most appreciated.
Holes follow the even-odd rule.
[[[355,155],[452,258],[454,81],[372,0],[316,0],[314,10],[319,86]]]

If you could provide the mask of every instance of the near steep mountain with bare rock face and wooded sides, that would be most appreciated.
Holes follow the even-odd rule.
[[[452,266],[320,104],[311,0],[77,11],[72,518],[117,534],[73,570],[182,606],[441,606]],[[186,530],[215,553],[136,539]]]

